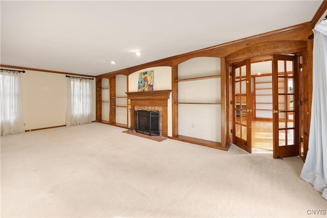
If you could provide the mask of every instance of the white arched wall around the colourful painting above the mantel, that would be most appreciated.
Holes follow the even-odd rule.
[[[153,70],[153,90],[172,89],[172,68],[153,67],[136,71],[128,76],[128,92],[137,92],[138,73]],[[168,136],[172,136],[172,94],[168,99]]]

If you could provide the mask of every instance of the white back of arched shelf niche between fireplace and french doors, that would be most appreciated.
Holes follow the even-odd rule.
[[[178,79],[220,75],[220,58],[197,57],[178,65]],[[220,78],[178,82],[178,102],[219,102]],[[178,104],[178,134],[221,142],[221,105]]]

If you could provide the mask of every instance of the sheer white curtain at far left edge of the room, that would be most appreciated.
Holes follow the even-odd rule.
[[[1,136],[24,132],[20,74],[0,72]]]

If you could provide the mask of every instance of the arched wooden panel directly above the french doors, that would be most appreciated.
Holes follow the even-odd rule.
[[[296,52],[307,48],[307,41],[269,41],[248,46],[231,53],[226,61],[239,61],[252,57],[267,56],[278,53]]]

